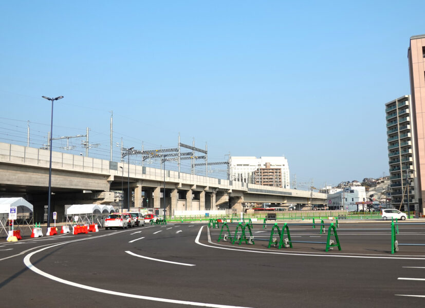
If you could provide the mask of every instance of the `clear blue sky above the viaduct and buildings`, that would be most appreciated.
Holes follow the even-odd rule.
[[[90,154],[103,159],[113,111],[114,143],[123,137],[127,147],[175,147],[180,132],[183,143],[207,142],[210,161],[284,155],[291,178],[315,186],[387,175],[384,104],[410,93],[407,49],[425,33],[423,9],[3,1],[0,141],[26,144],[30,121],[31,146],[41,147],[50,124],[41,96],[63,95],[53,137],[89,127],[90,143],[101,144]],[[81,140],[70,142],[82,151]]]

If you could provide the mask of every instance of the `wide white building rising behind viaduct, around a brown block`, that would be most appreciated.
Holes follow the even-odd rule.
[[[266,168],[266,163],[269,163],[272,169],[281,169],[281,186],[278,187],[290,188],[288,161],[284,156],[260,158],[232,156],[230,158],[230,179],[254,184],[254,171]]]

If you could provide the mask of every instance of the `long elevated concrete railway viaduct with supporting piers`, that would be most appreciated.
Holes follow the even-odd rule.
[[[41,218],[47,204],[49,151],[0,143],[0,197],[23,197],[34,205],[34,219]],[[165,181],[165,194],[164,194]],[[326,194],[247,184],[182,172],[111,162],[68,153],[52,153],[52,210],[64,214],[65,204],[111,203],[114,190],[123,187],[124,208],[175,210],[234,209],[245,203],[326,204]],[[133,197],[134,195],[134,197]],[[312,198],[311,198],[312,197]],[[39,217],[36,217],[39,216]],[[38,220],[40,221],[40,219]]]

